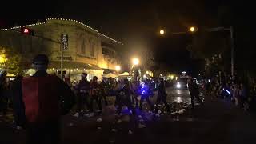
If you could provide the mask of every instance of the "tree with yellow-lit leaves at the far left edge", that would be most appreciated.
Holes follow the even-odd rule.
[[[0,46],[0,66],[3,70],[6,70],[10,74],[23,74],[25,70],[22,64],[22,56],[17,51]]]

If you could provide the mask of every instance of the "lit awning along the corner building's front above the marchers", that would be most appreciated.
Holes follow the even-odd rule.
[[[48,68],[54,68],[54,69],[60,69],[61,68],[61,62],[60,61],[51,61],[49,63]],[[82,63],[82,62],[63,62],[63,69],[86,69],[86,70],[102,70],[102,68],[92,65],[92,64],[87,64],[87,63]]]

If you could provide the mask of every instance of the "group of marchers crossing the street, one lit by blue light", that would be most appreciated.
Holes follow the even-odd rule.
[[[163,78],[157,80],[146,79],[143,82],[132,78],[130,81],[127,78],[116,80],[115,78],[102,78],[101,82],[98,82],[98,78],[94,78],[89,82],[86,78],[87,74],[83,73],[81,80],[78,84],[72,86],[76,95],[76,113],[75,117],[83,114],[86,117],[93,117],[94,111],[102,112],[102,100],[105,105],[108,105],[107,96],[114,96],[114,106],[117,109],[117,114],[121,114],[123,106],[127,106],[128,109],[134,113],[134,108],[143,109],[143,102],[146,100],[150,106],[150,113],[158,115],[158,104],[162,100],[166,106],[167,111],[170,111],[170,106],[166,102],[166,91]],[[158,91],[158,100],[156,102],[156,109],[150,101],[150,97],[154,96],[154,91]],[[140,96],[140,101],[138,97]],[[94,110],[94,101],[98,106],[98,110]],[[85,113],[85,111],[88,113]]]

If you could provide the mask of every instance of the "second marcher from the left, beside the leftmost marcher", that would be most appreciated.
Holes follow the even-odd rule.
[[[98,104],[98,112],[102,112],[102,104],[98,100],[98,78],[96,76],[93,77],[92,81],[90,82],[90,117],[94,116],[94,100]]]

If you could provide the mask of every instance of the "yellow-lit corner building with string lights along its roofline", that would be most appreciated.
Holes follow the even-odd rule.
[[[33,30],[33,36],[21,34],[22,27]],[[104,70],[114,70],[121,63],[116,50],[122,43],[82,22],[47,18],[22,27],[0,30],[0,46],[18,51],[28,67],[34,55],[47,54],[50,73],[60,74],[62,61],[63,73],[78,79],[82,72],[88,73],[89,78],[101,78]],[[28,69],[27,73],[33,70]]]

